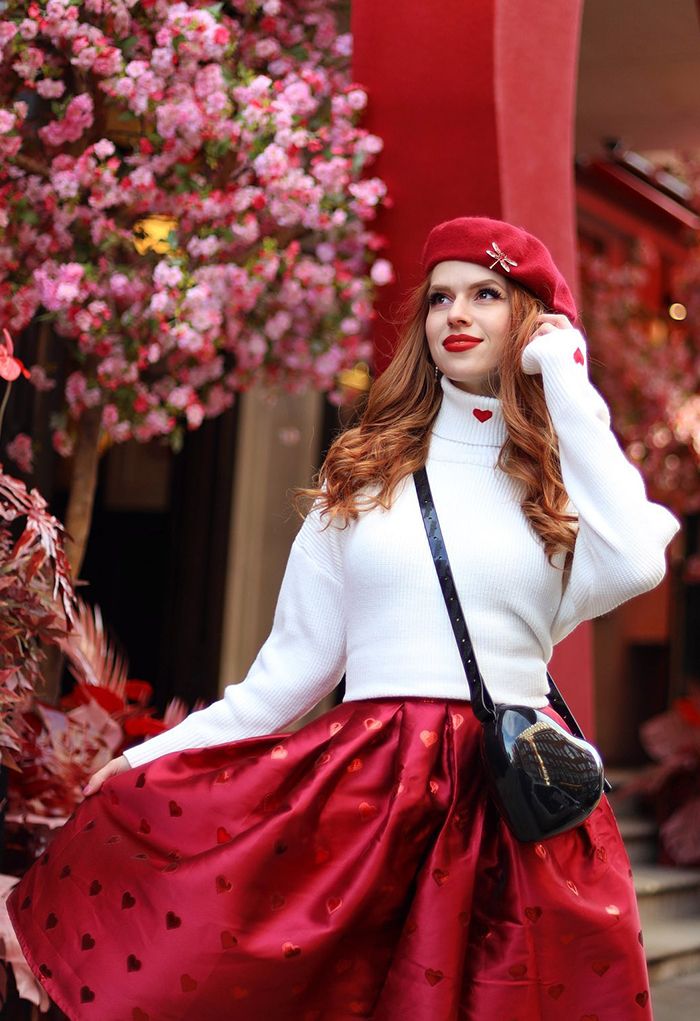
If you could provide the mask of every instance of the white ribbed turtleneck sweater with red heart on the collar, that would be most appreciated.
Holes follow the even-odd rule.
[[[519,484],[497,467],[500,402],[442,380],[428,474],[459,597],[497,702],[541,707],[552,646],[583,620],[657,585],[676,519],[647,500],[588,380],[576,330],[532,341],[579,531],[570,572],[550,564],[520,507]],[[468,698],[411,476],[389,510],[346,528],[312,510],[297,535],[269,637],[241,683],[183,723],[130,749],[132,766],[169,751],[283,730],[346,675],[345,700]]]

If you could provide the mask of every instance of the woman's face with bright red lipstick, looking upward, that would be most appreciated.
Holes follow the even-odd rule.
[[[436,366],[461,390],[494,392],[510,329],[510,285],[476,262],[438,262],[431,273],[426,319]]]

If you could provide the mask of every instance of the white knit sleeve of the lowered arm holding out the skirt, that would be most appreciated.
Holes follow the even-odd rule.
[[[282,730],[336,687],[346,649],[341,535],[311,510],[290,552],[272,629],[244,680],[171,730],[130,748],[131,766]]]

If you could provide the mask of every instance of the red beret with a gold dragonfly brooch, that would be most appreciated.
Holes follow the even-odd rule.
[[[428,276],[434,265],[448,259],[494,270],[527,288],[550,311],[561,312],[572,322],[577,319],[573,296],[549,249],[519,227],[488,216],[457,216],[438,224],[423,246],[423,273]]]

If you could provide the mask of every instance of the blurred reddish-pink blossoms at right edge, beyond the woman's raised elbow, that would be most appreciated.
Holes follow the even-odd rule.
[[[678,514],[700,509],[700,251],[689,251],[673,282],[688,306],[684,322],[649,307],[653,253],[638,244],[617,264],[582,260],[587,328],[596,384],[609,401],[629,456],[655,499]]]

